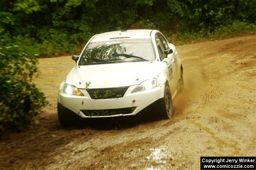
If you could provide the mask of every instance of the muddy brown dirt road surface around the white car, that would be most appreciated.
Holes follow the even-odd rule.
[[[200,169],[200,156],[255,156],[256,36],[177,49],[186,90],[172,119],[94,120],[84,128],[62,128],[57,117],[71,57],[40,59],[35,82],[50,105],[39,124],[0,136],[0,169]]]

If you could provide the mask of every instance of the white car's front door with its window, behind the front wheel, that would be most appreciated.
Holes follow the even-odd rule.
[[[171,94],[174,94],[176,92],[177,88],[177,77],[176,77],[176,64],[175,64],[175,57],[174,54],[164,54],[164,51],[169,49],[167,40],[163,37],[162,34],[156,33],[155,35],[155,41],[159,53],[159,57],[162,62],[164,62],[167,65],[168,69],[168,82],[170,86]]]

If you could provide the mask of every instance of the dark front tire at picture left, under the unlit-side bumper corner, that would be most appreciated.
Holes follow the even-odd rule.
[[[57,105],[58,118],[62,127],[73,125],[73,118],[71,117],[70,110],[62,106],[60,103]]]

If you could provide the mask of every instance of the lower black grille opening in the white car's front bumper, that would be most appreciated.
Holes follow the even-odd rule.
[[[104,110],[81,110],[86,116],[110,116],[110,115],[118,115],[118,114],[130,114],[136,107],[127,107],[121,109],[104,109]]]

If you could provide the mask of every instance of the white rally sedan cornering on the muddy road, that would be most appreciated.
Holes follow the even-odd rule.
[[[136,115],[156,101],[159,113],[171,118],[172,100],[184,88],[176,48],[158,30],[96,34],[72,59],[76,65],[61,82],[58,94],[63,126],[74,123],[74,115]]]

